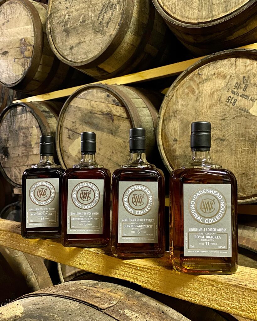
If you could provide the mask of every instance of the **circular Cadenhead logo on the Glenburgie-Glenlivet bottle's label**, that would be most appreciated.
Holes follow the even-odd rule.
[[[95,184],[82,182],[73,188],[71,198],[78,208],[90,209],[99,202],[100,192]]]

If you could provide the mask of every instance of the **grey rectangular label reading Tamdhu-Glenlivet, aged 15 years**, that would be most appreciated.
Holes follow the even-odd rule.
[[[26,179],[26,228],[59,225],[59,179]]]

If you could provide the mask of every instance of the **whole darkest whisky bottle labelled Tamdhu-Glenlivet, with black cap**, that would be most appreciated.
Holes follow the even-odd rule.
[[[61,184],[64,169],[54,163],[54,137],[40,136],[40,161],[22,175],[23,238],[61,236]]]

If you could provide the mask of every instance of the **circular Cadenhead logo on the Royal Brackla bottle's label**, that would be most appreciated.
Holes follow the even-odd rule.
[[[224,195],[213,188],[203,188],[194,192],[189,199],[189,212],[194,220],[202,224],[215,224],[226,214]]]

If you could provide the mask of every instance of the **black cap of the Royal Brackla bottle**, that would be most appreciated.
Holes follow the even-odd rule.
[[[191,124],[191,150],[209,151],[211,147],[211,123],[196,121]]]

